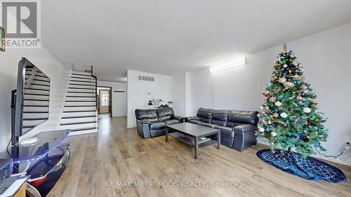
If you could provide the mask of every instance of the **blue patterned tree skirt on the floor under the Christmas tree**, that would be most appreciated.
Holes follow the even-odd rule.
[[[333,183],[346,180],[344,173],[338,168],[311,157],[303,158],[292,151],[275,150],[275,153],[272,153],[270,149],[264,149],[258,151],[257,156],[275,168],[304,179]]]

